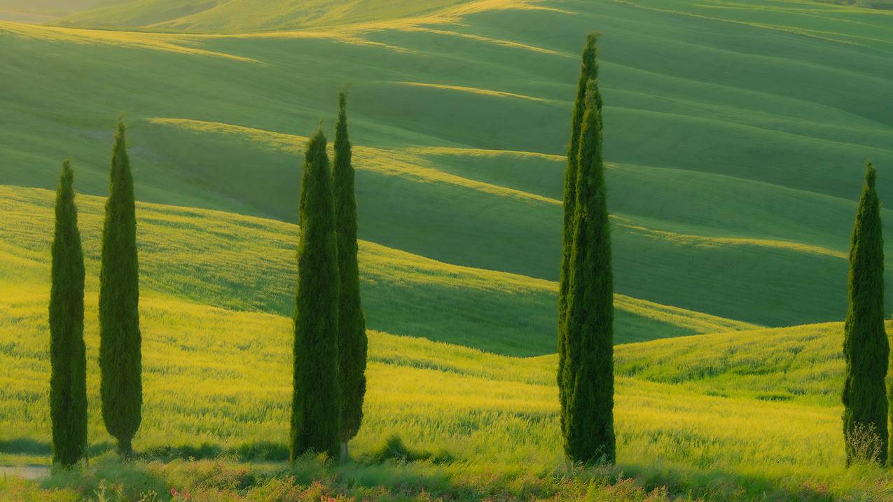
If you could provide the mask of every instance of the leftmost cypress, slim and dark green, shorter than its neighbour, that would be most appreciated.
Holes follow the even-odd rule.
[[[77,464],[87,450],[87,350],[84,346],[84,255],[74,172],[63,162],[56,189],[50,289],[50,417],[53,462]]]

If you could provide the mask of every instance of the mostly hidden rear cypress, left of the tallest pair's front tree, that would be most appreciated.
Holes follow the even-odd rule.
[[[590,33],[586,38],[586,46],[583,48],[582,62],[580,63],[580,79],[577,82],[577,96],[573,104],[571,116],[571,141],[567,151],[567,167],[564,170],[564,218],[562,231],[562,262],[558,281],[558,397],[561,401],[561,426],[564,431],[564,415],[566,399],[564,395],[563,372],[566,361],[565,338],[567,337],[567,291],[570,276],[568,269],[571,265],[571,247],[573,242],[573,215],[577,202],[577,163],[580,152],[580,126],[583,121],[583,113],[586,112],[586,87],[589,80],[598,79],[597,41],[595,33]],[[601,111],[601,97],[596,96],[599,112]],[[598,115],[601,120],[601,113]]]

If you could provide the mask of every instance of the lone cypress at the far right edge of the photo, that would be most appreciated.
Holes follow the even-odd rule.
[[[865,164],[865,183],[849,250],[849,306],[844,322],[843,353],[847,363],[843,389],[843,431],[847,464],[878,451],[887,462],[888,401],[885,379],[889,340],[884,329],[884,248],[880,201],[874,188],[877,172]],[[866,434],[876,434],[866,448]],[[867,450],[867,451],[866,451]]]

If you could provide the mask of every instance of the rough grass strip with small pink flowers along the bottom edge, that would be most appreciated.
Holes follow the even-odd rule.
[[[619,467],[562,466],[541,473],[506,476],[497,469],[462,465],[443,473],[430,461],[334,464],[325,456],[303,456],[296,464],[242,464],[220,457],[168,463],[138,460],[121,464],[104,456],[90,469],[54,471],[45,481],[0,479],[0,493],[12,500],[155,502],[318,502],[355,500],[612,500],[695,502],[701,500],[886,501],[893,487],[877,466],[856,465],[839,480],[849,486],[833,493],[822,482],[762,489],[759,481],[712,473],[693,480],[657,471],[628,475]],[[750,483],[750,484],[748,484]],[[856,488],[858,487],[858,488]]]

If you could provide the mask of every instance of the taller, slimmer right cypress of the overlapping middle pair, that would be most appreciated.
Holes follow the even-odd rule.
[[[366,394],[366,320],[360,305],[360,272],[357,266],[356,197],[350,139],[347,138],[347,96],[338,94],[335,130],[335,232],[338,239],[338,383],[341,385],[341,457],[347,457],[347,441],[360,431],[363,396]]]

